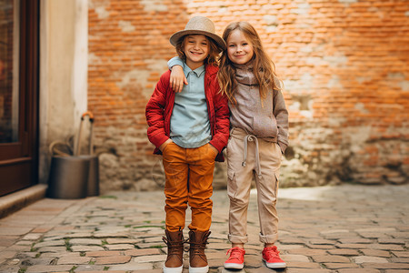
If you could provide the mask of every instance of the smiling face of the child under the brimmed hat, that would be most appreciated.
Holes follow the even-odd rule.
[[[184,52],[186,65],[195,70],[203,66],[205,58],[209,56],[209,41],[205,35],[186,35]]]

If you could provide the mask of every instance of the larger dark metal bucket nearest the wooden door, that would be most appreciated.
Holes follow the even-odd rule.
[[[89,157],[52,157],[47,197],[85,198],[89,175]]]

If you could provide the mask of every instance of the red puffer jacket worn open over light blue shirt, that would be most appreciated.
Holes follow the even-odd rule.
[[[216,66],[205,66],[205,96],[212,133],[210,144],[219,151],[215,160],[223,162],[222,151],[227,145],[230,121],[227,98],[219,93],[217,71]],[[170,136],[170,119],[175,105],[175,92],[169,84],[170,73],[168,70],[161,76],[145,109],[149,126],[147,136],[155,145],[154,154],[157,155],[162,154],[158,147]]]

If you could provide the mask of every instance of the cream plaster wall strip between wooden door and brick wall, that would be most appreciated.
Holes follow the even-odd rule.
[[[40,182],[48,147],[76,136],[87,108],[88,0],[40,3]]]

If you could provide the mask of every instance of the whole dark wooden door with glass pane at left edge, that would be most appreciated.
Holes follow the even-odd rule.
[[[0,0],[0,196],[38,181],[39,0]]]

